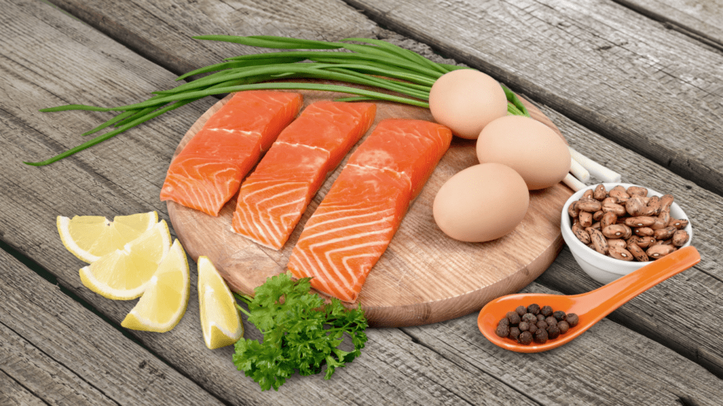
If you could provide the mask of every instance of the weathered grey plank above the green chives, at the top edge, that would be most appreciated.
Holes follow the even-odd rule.
[[[193,35],[294,33],[300,38],[338,40],[377,30],[342,1],[49,1],[176,74],[259,51],[193,40]]]

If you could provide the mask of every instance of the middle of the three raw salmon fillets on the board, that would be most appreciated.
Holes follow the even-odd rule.
[[[309,202],[374,122],[374,103],[318,101],[301,112],[241,185],[233,227],[281,249]]]

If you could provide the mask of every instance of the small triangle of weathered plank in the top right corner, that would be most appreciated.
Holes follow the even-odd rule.
[[[615,0],[667,28],[679,30],[704,43],[723,49],[723,2],[720,0]]]

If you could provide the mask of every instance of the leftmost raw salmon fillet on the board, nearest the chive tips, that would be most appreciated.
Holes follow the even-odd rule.
[[[218,216],[301,103],[301,94],[294,92],[237,92],[171,162],[161,201]]]

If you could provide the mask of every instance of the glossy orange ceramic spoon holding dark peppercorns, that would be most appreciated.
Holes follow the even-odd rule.
[[[644,267],[618,278],[607,285],[580,295],[547,295],[544,293],[518,293],[502,296],[490,301],[482,308],[477,317],[479,331],[495,345],[518,353],[539,353],[552,350],[560,345],[583,334],[593,324],[600,321],[616,308],[630,301],[645,290],[658,283],[685,271],[701,262],[701,255],[693,246],[687,246],[667,254]],[[515,311],[517,306],[529,306],[537,303],[540,307],[548,305],[553,310],[565,313],[575,313],[580,321],[576,327],[570,327],[568,332],[560,334],[554,340],[547,340],[544,344],[532,342],[523,345],[511,338],[502,338],[495,334],[497,323],[505,317],[508,311]]]

